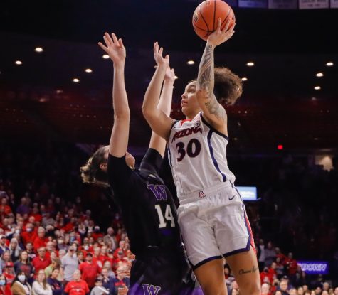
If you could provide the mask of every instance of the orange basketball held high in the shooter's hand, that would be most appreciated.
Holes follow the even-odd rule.
[[[231,7],[222,0],[203,1],[194,11],[192,25],[196,34],[204,41],[216,31],[218,18],[221,18],[221,29],[225,28],[228,19],[231,19],[229,28],[235,23],[235,14]]]

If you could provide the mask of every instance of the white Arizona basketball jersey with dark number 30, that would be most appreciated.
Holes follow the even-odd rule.
[[[211,127],[201,112],[171,128],[168,153],[177,196],[188,195],[225,181],[235,181],[228,168],[228,137]]]

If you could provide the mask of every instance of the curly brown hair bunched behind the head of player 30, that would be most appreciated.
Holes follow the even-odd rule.
[[[215,68],[215,87],[213,92],[218,102],[233,105],[242,95],[242,80],[228,68]]]

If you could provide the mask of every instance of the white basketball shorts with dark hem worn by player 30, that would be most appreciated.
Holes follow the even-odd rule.
[[[241,195],[229,181],[180,198],[179,226],[193,269],[255,250]]]

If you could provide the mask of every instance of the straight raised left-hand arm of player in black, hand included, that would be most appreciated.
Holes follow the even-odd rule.
[[[109,152],[118,158],[125,156],[129,139],[130,109],[125,90],[125,46],[122,39],[117,39],[114,33],[103,36],[105,45],[100,48],[110,56],[114,63],[114,80],[112,86],[112,107],[114,109],[114,126],[110,136]]]

